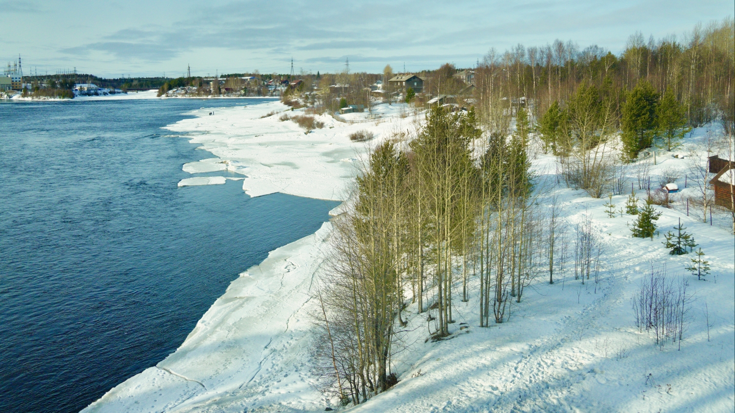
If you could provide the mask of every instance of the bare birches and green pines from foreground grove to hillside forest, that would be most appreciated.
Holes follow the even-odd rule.
[[[556,197],[539,202],[532,153],[556,155],[559,183],[601,197],[630,189],[627,165],[648,147],[675,147],[691,127],[719,121],[731,139],[733,30],[725,19],[681,42],[634,34],[621,56],[558,40],[491,50],[466,112],[427,107],[425,122],[374,147],[333,219],[315,288],[321,390],[346,405],[395,384],[392,356],[420,328],[406,322],[409,308],[442,340],[458,302],[475,301],[479,326],[505,323],[541,276],[553,284],[572,274],[596,292],[603,243],[589,214],[567,233]],[[445,65],[426,89],[439,87],[436,76],[451,85],[452,75]],[[634,193],[629,204],[638,213]]]

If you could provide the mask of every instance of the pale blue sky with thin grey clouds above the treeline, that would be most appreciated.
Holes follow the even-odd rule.
[[[0,63],[97,76],[395,72],[472,67],[490,48],[572,40],[620,54],[634,32],[682,39],[733,0],[0,0]]]

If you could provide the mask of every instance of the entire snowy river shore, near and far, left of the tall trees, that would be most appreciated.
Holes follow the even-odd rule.
[[[389,117],[394,108],[383,113]],[[391,122],[371,121],[377,138],[356,143],[348,135],[365,124],[323,116],[325,127],[305,134],[295,123],[279,121],[279,114],[263,117],[286,110],[279,102],[216,109],[214,115],[209,115],[211,109],[200,109],[193,112],[196,118],[169,125],[218,156],[182,169],[194,175],[225,169],[247,175],[243,189],[251,196],[283,192],[343,200],[361,154],[412,121],[397,116],[385,119]],[[225,179],[193,177],[179,186]],[[261,406],[323,411],[326,402],[310,386],[306,303],[330,228],[323,224],[315,235],[270,252],[259,266],[240,274],[175,353],[119,384],[84,412],[243,412]]]

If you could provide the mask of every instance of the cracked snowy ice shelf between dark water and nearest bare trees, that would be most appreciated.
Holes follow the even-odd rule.
[[[133,376],[84,412],[196,412],[203,406],[242,412],[254,401],[281,403],[287,392],[301,409],[320,406],[307,381],[308,348],[294,344],[309,326],[302,307],[330,230],[326,222],[240,274],[160,368]],[[277,361],[284,358],[292,361]]]

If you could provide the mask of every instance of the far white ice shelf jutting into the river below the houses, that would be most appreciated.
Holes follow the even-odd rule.
[[[356,163],[343,159],[356,158],[356,153],[363,153],[368,147],[348,138],[359,125],[320,116],[324,128],[304,134],[304,129],[295,123],[280,121],[279,114],[260,118],[273,110],[285,109],[280,102],[269,102],[218,109],[212,116],[206,110],[197,111],[194,114],[198,117],[167,128],[187,133],[192,138],[190,142],[201,144],[201,149],[242,165],[237,172],[247,175],[243,189],[252,197],[282,192],[344,200],[356,173]],[[197,163],[184,165],[184,170],[193,168],[194,164]]]

